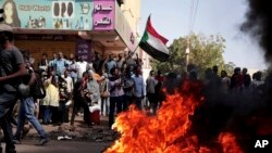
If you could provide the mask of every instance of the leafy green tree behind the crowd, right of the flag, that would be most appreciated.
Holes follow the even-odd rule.
[[[170,59],[168,62],[152,61],[152,67],[162,72],[181,73],[186,71],[186,53],[187,40],[189,40],[189,64],[196,66],[200,77],[203,76],[205,69],[214,65],[219,69],[224,68],[223,52],[225,49],[225,39],[220,35],[190,35],[175,39],[169,47]]]

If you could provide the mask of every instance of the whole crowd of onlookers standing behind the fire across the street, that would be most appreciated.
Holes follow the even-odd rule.
[[[74,125],[75,115],[79,115],[91,126],[91,106],[99,110],[99,115],[109,117],[109,127],[114,123],[115,114],[126,111],[131,104],[135,104],[139,110],[143,110],[144,105],[148,106],[156,114],[165,98],[162,88],[165,87],[166,92],[171,94],[174,93],[175,86],[181,85],[182,79],[199,79],[196,68],[191,68],[183,76],[150,71],[145,80],[141,61],[133,59],[129,53],[124,56],[110,54],[106,59],[96,53],[91,62],[73,54],[64,58],[62,52],[48,59],[45,53],[37,63],[29,53],[23,54],[29,67],[38,65],[36,72],[42,76],[45,82],[46,98],[35,101],[37,117],[45,125],[69,122]],[[207,68],[202,82],[210,91],[213,87],[217,87],[217,90],[220,87],[225,93],[250,87],[257,89],[263,84],[261,72],[256,73],[251,80],[247,68],[242,71],[236,67],[233,75],[228,76],[225,71],[219,75],[218,66]]]

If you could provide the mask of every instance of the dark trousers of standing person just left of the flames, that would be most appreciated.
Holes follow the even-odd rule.
[[[114,123],[115,106],[118,107],[118,113],[122,112],[123,95],[122,97],[110,97],[110,114],[109,114],[109,127]]]

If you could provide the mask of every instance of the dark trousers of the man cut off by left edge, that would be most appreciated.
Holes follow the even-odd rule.
[[[0,91],[0,126],[3,130],[5,149],[9,151],[15,150],[15,145],[13,142],[13,133],[11,126],[11,117],[13,106],[16,103],[16,94],[15,93],[7,93]]]

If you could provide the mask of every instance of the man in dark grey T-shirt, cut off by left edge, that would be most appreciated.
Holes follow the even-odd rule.
[[[13,46],[13,39],[12,28],[0,24],[0,126],[5,138],[7,153],[16,153],[9,118],[17,100],[17,80],[26,75],[23,55]]]

